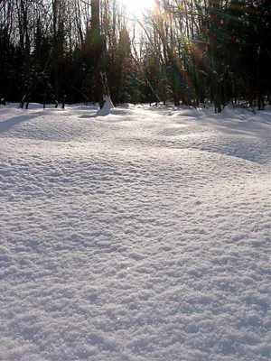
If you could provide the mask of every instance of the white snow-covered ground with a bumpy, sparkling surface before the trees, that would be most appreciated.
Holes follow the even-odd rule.
[[[270,359],[270,125],[0,107],[2,361]]]

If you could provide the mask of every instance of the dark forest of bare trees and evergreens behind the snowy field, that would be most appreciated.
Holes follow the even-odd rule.
[[[1,102],[230,100],[271,97],[268,0],[155,0],[140,16],[117,0],[1,0]]]

